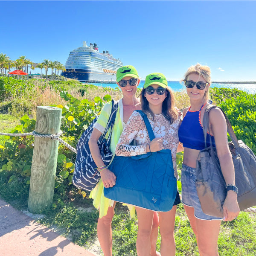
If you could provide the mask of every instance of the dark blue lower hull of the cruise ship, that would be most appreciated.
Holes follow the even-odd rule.
[[[67,69],[65,72],[61,73],[61,76],[83,82],[116,82],[116,74],[92,71],[89,69]]]

